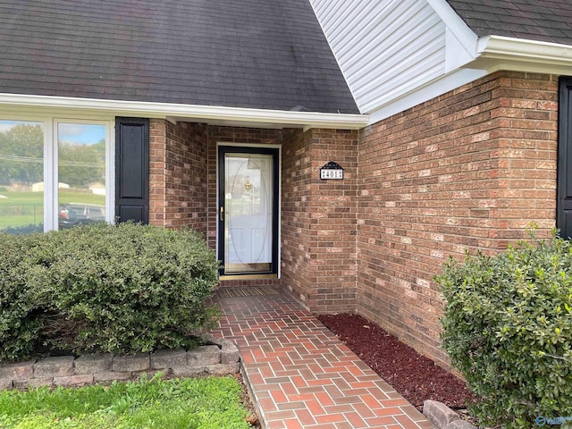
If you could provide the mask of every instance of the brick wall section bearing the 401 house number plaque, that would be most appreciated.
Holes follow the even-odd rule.
[[[282,284],[320,313],[356,305],[357,131],[290,130],[282,148]],[[343,181],[322,181],[334,161]]]

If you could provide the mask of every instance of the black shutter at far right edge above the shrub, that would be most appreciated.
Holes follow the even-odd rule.
[[[572,237],[572,77],[560,78],[558,128],[556,226],[568,239]]]

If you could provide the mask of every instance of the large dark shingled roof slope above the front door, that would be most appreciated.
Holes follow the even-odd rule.
[[[0,0],[0,93],[357,113],[307,0]]]

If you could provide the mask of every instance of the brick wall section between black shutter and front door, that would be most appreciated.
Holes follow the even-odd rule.
[[[206,125],[150,121],[149,223],[206,235]]]

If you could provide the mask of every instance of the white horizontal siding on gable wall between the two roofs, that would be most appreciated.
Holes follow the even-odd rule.
[[[446,27],[426,0],[310,0],[363,114],[441,77]]]

